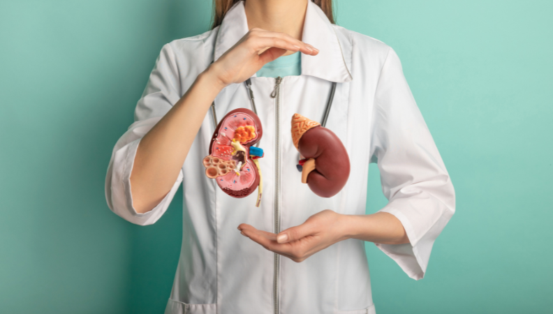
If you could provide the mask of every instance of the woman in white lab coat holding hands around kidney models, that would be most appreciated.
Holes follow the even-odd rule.
[[[165,313],[375,313],[364,241],[418,280],[455,212],[450,177],[397,54],[332,24],[330,0],[215,2],[214,29],[163,46],[135,123],[113,150],[110,209],[149,225],[183,185],[182,253]],[[294,52],[301,75],[256,75]],[[226,195],[202,165],[215,129],[210,105],[217,117],[250,108],[249,78],[264,130],[259,208],[256,193]],[[323,198],[301,183],[289,121],[296,112],[322,117],[332,82],[326,127],[344,143],[351,174]],[[390,202],[366,215],[369,163]]]

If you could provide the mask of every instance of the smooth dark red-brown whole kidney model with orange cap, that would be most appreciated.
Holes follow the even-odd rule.
[[[320,197],[332,197],[344,188],[350,162],[346,147],[336,134],[316,121],[294,114],[292,140],[304,158],[298,165],[302,183]]]

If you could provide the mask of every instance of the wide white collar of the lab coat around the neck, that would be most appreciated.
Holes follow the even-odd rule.
[[[214,60],[233,47],[247,32],[244,1],[236,3],[223,18],[215,41]],[[302,75],[319,77],[330,82],[350,82],[351,43],[339,36],[325,13],[309,1],[305,13],[302,40],[319,50],[316,56],[302,54]],[[253,76],[256,76],[255,74]]]

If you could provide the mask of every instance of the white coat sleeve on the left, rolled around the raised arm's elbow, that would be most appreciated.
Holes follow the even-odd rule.
[[[110,209],[125,220],[137,225],[155,223],[169,207],[182,182],[179,172],[171,190],[151,211],[138,214],[133,207],[131,193],[131,171],[142,137],[161,120],[179,100],[179,77],[175,54],[170,44],[163,46],[154,70],[149,76],[146,88],[135,108],[135,122],[119,138],[112,152],[108,173],[105,178],[105,197]]]

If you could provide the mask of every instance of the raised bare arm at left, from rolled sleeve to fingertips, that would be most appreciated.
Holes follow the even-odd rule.
[[[265,50],[265,48],[270,49]],[[214,61],[167,114],[140,140],[131,173],[133,206],[145,213],[170,191],[209,105],[228,84],[244,82],[286,50],[318,50],[284,33],[251,29]],[[261,53],[264,51],[263,53]]]

